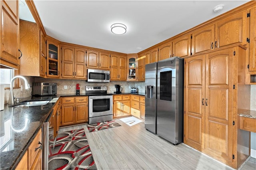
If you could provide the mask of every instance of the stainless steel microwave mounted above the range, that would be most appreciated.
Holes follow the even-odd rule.
[[[88,82],[103,82],[109,83],[110,71],[109,70],[96,70],[87,69],[87,81]]]

